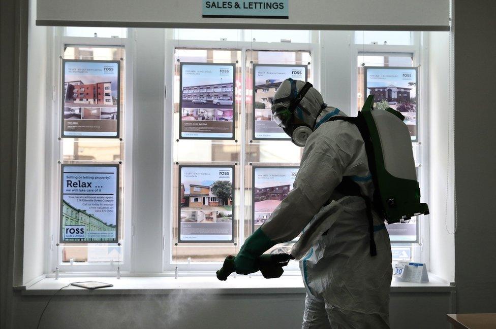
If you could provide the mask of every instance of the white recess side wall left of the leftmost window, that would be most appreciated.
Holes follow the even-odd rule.
[[[48,38],[50,29],[35,26],[36,1],[29,13],[27,75],[27,122],[26,122],[26,190],[24,222],[23,283],[44,273],[46,235],[48,220],[46,200],[46,148],[47,127],[47,65]]]

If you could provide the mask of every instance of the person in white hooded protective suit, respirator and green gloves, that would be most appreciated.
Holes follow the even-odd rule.
[[[346,115],[304,81],[281,84],[272,114],[305,149],[294,189],[246,239],[234,260],[236,272],[256,272],[264,251],[307,231],[312,238],[300,238],[291,250],[306,287],[302,328],[389,328],[391,245],[369,206],[374,184],[358,128],[329,121]]]

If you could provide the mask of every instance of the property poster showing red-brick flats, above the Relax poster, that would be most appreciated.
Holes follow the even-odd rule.
[[[119,137],[120,62],[64,60],[63,137]]]

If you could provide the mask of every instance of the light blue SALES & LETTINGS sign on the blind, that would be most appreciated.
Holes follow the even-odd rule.
[[[289,18],[288,0],[203,0],[202,17],[206,18]]]

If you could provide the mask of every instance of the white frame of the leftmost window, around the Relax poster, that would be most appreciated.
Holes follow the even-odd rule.
[[[51,76],[48,77],[47,83],[51,85],[53,91],[49,115],[47,116],[47,135],[45,140],[47,150],[47,181],[52,184],[48,188],[47,195],[47,214],[52,220],[48,221],[47,232],[49,239],[47,239],[47,250],[45,266],[46,272],[49,276],[55,275],[53,272],[70,274],[88,275],[90,273],[99,273],[101,275],[115,275],[117,268],[120,272],[131,272],[131,252],[132,252],[132,141],[133,141],[133,53],[134,53],[134,38],[133,29],[127,28],[127,38],[91,38],[91,37],[78,37],[66,36],[65,27],[54,27],[53,38],[48,47],[48,56],[50,61],[49,71]],[[74,163],[73,161],[64,162],[63,158],[63,139],[61,138],[61,111],[62,99],[59,95],[62,94],[63,86],[62,80],[62,60],[64,58],[64,49],[66,46],[93,46],[93,47],[122,47],[125,49],[125,58],[122,60],[125,75],[123,77],[123,84],[125,86],[124,101],[121,111],[120,120],[123,121],[122,131],[120,132],[120,143],[126,141],[123,147],[124,158],[120,164],[120,175],[122,177],[123,192],[122,198],[122,237],[123,242],[120,245],[122,248],[123,258],[118,262],[74,262],[63,263],[61,253],[63,244],[58,241],[60,235],[60,164],[61,163]],[[65,137],[66,139],[70,137]],[[100,138],[101,139],[101,138]],[[114,138],[112,138],[114,139]],[[94,139],[97,140],[97,139]],[[118,138],[117,138],[118,140]],[[125,161],[124,161],[125,160]],[[92,163],[86,160],[78,160],[76,163]],[[101,163],[95,161],[94,163]],[[112,161],[112,163],[119,163],[119,161]],[[111,244],[114,245],[114,244]],[[74,246],[74,244],[66,244],[66,246]]]

